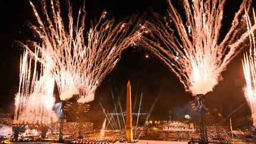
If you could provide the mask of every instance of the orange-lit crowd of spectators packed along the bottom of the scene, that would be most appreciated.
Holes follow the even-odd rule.
[[[0,123],[12,125],[13,120],[9,117],[0,117]],[[36,126],[34,126],[36,127]],[[39,128],[39,127],[38,127]],[[36,128],[34,128],[36,129]],[[37,133],[40,133],[39,129]],[[47,126],[47,137],[59,139],[60,123],[54,123]],[[26,133],[25,133],[26,132]],[[30,131],[28,131],[30,132]],[[30,133],[24,131],[21,141],[38,141],[40,136],[28,137]],[[100,132],[95,132],[93,123],[84,122],[68,122],[63,123],[63,139],[75,139],[72,143],[115,143],[125,139],[125,130],[106,130],[105,136],[100,137]],[[157,135],[155,135],[157,133]],[[200,141],[200,126],[196,126],[194,131],[181,130],[164,130],[163,128],[153,129],[153,127],[133,127],[133,139],[143,139],[143,137],[152,137],[154,140],[165,141],[180,141],[180,142],[199,142]],[[232,133],[230,127],[223,126],[207,126],[207,138],[209,143],[230,143],[232,142]],[[235,142],[241,143],[256,143],[255,138],[236,137]]]

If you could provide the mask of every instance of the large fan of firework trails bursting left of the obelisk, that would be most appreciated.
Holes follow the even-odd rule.
[[[28,41],[29,52],[34,56],[34,47],[40,47],[40,53],[43,49],[47,50],[53,65],[50,71],[55,75],[60,100],[67,100],[73,95],[77,95],[79,103],[94,100],[95,90],[116,66],[122,50],[135,44],[141,36],[134,23],[137,15],[116,22],[114,19],[106,20],[107,12],[104,11],[100,20],[91,24],[85,38],[85,5],[73,20],[72,7],[67,2],[66,26],[60,16],[58,0],[51,0],[50,4],[41,1],[41,11],[37,11],[32,2],[30,4],[38,22],[37,26],[31,24],[30,27],[40,43]]]

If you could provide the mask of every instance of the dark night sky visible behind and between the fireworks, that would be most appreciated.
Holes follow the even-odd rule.
[[[71,1],[71,4],[79,5],[76,2],[81,4],[83,1]],[[228,0],[226,2],[221,36],[227,31],[233,18],[233,13],[240,2],[239,0]],[[167,9],[167,1],[164,0],[91,0],[85,3],[88,14],[87,20],[98,18],[104,9],[108,12],[108,17],[114,16],[117,20],[133,13],[139,12],[142,14],[149,7],[152,7],[154,11],[159,12],[161,15],[165,15]],[[35,17],[27,0],[2,1],[1,5],[0,108],[11,113],[14,94],[18,90],[20,55],[23,52],[19,47],[12,46],[12,42],[14,40],[24,41],[27,39],[27,28],[23,25],[27,20],[34,23]],[[76,12],[75,9],[73,11]],[[148,59],[145,58],[146,54],[149,54]],[[241,57],[242,52],[232,60],[226,71],[222,73],[223,81],[219,82],[213,92],[207,94],[207,107],[222,108],[223,116],[228,116],[239,105],[246,103],[242,93],[242,86],[245,81]],[[136,110],[141,92],[143,92],[142,112],[149,111],[153,101],[158,97],[152,116],[168,119],[167,111],[172,110],[174,118],[175,116],[184,117],[184,114],[189,113],[191,110],[189,105],[191,94],[184,91],[183,85],[181,85],[174,73],[164,63],[151,55],[150,52],[137,47],[124,50],[116,68],[105,77],[103,83],[97,89],[97,100],[91,103],[91,111],[97,113],[101,109],[98,100],[103,103],[104,108],[107,110],[114,110],[111,89],[115,99],[119,95],[120,99],[123,100],[128,79],[130,79],[132,85],[133,100],[135,100],[137,94]],[[124,101],[121,101],[121,103],[123,105]],[[245,104],[232,117],[242,117],[248,114],[249,108]]]

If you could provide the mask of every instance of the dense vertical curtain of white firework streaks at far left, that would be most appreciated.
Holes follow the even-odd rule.
[[[36,50],[34,65],[27,50],[24,50],[21,57],[20,87],[15,97],[14,123],[50,124],[57,120],[53,111],[54,77],[49,71],[49,65],[41,64],[40,71],[37,71],[37,55]],[[43,53],[42,60],[47,59],[44,56],[47,55]]]

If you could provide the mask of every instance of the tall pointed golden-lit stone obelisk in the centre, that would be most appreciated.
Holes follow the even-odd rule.
[[[126,89],[126,141],[133,142],[132,132],[132,95],[130,81],[128,80]]]

